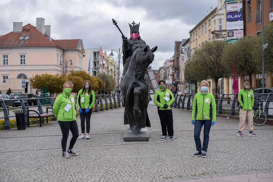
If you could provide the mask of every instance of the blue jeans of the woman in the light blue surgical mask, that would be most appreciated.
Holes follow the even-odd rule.
[[[204,140],[203,147],[201,146],[200,133],[204,125]],[[209,131],[211,127],[211,120],[195,120],[194,124],[194,140],[196,145],[196,151],[207,152],[207,147],[209,145]]]

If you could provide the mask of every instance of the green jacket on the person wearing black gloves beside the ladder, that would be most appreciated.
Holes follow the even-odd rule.
[[[168,97],[170,100],[165,100],[164,97]],[[174,102],[174,96],[173,96],[173,93],[165,88],[164,91],[162,91],[161,89],[157,90],[155,92],[155,95],[154,95],[154,103],[157,105],[157,109],[159,110],[169,110],[171,109],[171,104]],[[168,108],[167,109],[164,109],[163,106],[164,104],[167,104],[168,105]]]

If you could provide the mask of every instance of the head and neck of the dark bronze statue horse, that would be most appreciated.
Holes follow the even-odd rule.
[[[136,47],[133,52],[130,66],[133,67],[136,72],[138,79],[143,79],[146,73],[146,69],[153,62],[155,55],[153,54],[157,50],[157,46],[150,49],[145,43],[140,44]]]

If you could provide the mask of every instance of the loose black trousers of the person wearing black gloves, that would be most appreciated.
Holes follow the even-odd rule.
[[[167,136],[168,129],[168,135],[173,136],[173,111],[171,109],[169,110],[158,109],[157,112],[160,118],[162,135]]]

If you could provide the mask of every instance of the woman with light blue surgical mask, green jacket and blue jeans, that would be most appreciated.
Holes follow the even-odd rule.
[[[196,152],[192,155],[192,157],[207,157],[210,127],[213,126],[216,121],[215,99],[214,96],[207,91],[209,88],[209,82],[206,80],[201,81],[200,87],[201,92],[195,94],[192,102],[191,123],[194,125],[194,140],[196,145]],[[204,140],[202,147],[200,133],[203,125]]]

